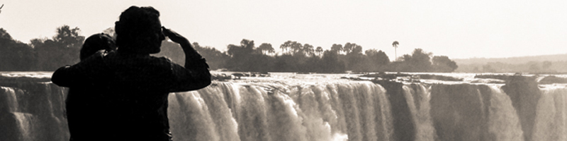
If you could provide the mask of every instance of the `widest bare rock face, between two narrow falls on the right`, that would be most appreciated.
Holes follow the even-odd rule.
[[[485,85],[433,85],[431,116],[439,140],[488,140],[491,93]]]

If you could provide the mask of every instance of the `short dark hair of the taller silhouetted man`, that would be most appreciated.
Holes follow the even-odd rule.
[[[114,27],[116,31],[116,45],[121,51],[136,51],[130,49],[137,38],[144,32],[152,29],[152,25],[159,23],[159,11],[151,6],[130,6],[120,14],[120,19]],[[128,46],[130,45],[130,46]]]

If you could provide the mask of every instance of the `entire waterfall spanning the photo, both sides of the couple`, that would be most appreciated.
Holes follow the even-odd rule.
[[[0,81],[1,140],[68,140],[67,88]],[[403,84],[323,75],[213,82],[169,95],[174,140],[567,140],[566,87]]]

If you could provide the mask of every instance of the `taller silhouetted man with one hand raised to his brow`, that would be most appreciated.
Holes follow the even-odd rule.
[[[57,85],[86,86],[87,94],[101,95],[101,107],[94,109],[100,118],[92,124],[96,130],[74,140],[171,140],[167,96],[210,85],[205,59],[185,37],[162,27],[152,7],[126,9],[115,30],[117,51],[94,54],[53,73]],[[160,51],[166,35],[181,44],[185,67],[150,56]]]

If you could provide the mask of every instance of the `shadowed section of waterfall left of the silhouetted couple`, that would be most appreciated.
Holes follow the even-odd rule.
[[[67,89],[45,82],[0,87],[0,140],[68,140]]]

